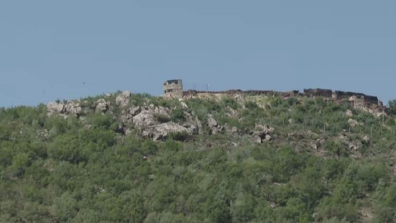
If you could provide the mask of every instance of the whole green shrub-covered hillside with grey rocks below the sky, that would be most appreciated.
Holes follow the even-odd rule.
[[[395,222],[376,97],[128,91],[0,110],[4,222]]]

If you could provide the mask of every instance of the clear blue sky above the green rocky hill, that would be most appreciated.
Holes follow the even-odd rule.
[[[396,98],[395,8],[395,0],[2,0],[0,107],[116,90],[160,95],[175,78],[185,89],[328,88],[387,103]]]

